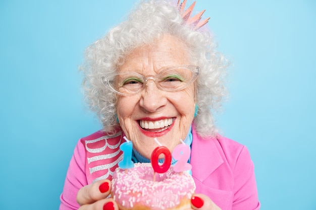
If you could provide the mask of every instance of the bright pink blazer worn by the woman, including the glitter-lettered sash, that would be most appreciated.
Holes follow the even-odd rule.
[[[202,139],[192,126],[192,177],[196,193],[209,196],[222,210],[259,209],[254,167],[246,147],[231,139]],[[112,179],[123,158],[124,133],[108,136],[97,131],[78,142],[70,161],[60,210],[78,209],[78,190],[99,179]]]

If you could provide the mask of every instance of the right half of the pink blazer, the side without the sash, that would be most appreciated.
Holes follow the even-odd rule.
[[[254,166],[245,146],[217,135],[202,139],[192,129],[192,177],[196,193],[210,197],[222,210],[260,208]]]

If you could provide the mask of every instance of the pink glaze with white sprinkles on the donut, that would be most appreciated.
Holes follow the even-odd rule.
[[[150,163],[137,163],[127,170],[117,168],[112,179],[113,199],[126,208],[143,205],[159,210],[192,197],[195,183],[189,174],[177,173],[171,166],[166,173],[156,173],[153,181],[153,173]]]

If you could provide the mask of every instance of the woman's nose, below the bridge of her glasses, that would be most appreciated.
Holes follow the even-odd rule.
[[[147,80],[145,90],[141,93],[139,105],[145,112],[159,112],[167,104],[165,94],[165,91],[157,88],[153,80]]]

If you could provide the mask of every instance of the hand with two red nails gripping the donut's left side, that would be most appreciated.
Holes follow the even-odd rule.
[[[118,210],[113,198],[107,198],[111,192],[111,181],[100,180],[82,187],[77,194],[78,210]]]

